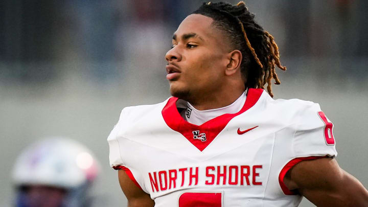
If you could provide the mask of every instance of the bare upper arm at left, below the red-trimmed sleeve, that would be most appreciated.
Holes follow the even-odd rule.
[[[153,207],[150,195],[137,187],[124,170],[118,171],[119,183],[128,199],[128,207]]]

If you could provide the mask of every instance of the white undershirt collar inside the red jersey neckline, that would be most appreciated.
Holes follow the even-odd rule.
[[[246,95],[243,93],[234,103],[222,107],[209,110],[197,110],[189,102],[179,100],[176,103],[178,108],[185,108],[180,112],[180,116],[187,122],[195,125],[201,125],[215,117],[221,116],[225,113],[236,113],[244,106]]]

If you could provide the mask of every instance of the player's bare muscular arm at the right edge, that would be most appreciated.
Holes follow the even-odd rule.
[[[368,206],[368,191],[343,171],[334,158],[298,163],[286,174],[284,183],[318,207]]]

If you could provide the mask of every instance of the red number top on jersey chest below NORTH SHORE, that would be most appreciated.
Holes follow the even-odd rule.
[[[186,192],[179,197],[179,207],[222,207],[222,193]]]

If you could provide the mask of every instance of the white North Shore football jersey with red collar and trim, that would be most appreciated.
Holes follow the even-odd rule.
[[[124,108],[108,137],[110,165],[156,207],[297,206],[302,197],[284,185],[286,172],[337,155],[333,125],[313,102],[250,88],[239,112],[194,125],[176,101]]]

